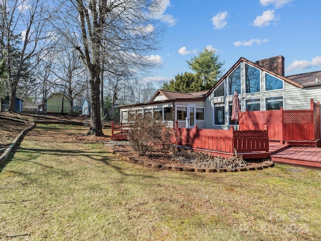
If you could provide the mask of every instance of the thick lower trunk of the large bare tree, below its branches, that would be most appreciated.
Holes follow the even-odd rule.
[[[87,135],[103,136],[101,118],[100,118],[100,71],[99,65],[92,65],[90,71],[90,89],[91,89],[91,125]]]

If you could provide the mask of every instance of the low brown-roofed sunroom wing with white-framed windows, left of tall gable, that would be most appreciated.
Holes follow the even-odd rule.
[[[157,90],[147,103],[138,103],[119,106],[120,121],[133,121],[137,114],[148,114],[163,122],[169,127],[199,128],[205,127],[204,96],[208,91],[194,93],[180,93],[168,90]],[[188,124],[187,124],[188,123]]]

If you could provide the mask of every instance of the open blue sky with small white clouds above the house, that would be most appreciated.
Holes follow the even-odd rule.
[[[161,49],[146,78],[156,88],[193,72],[186,61],[214,49],[226,73],[241,57],[255,62],[278,55],[285,76],[321,70],[319,0],[163,0],[158,18],[167,24]]]

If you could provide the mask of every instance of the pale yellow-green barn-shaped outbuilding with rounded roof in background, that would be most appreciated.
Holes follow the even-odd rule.
[[[46,99],[46,113],[70,113],[69,98],[63,93],[54,93],[50,95]]]

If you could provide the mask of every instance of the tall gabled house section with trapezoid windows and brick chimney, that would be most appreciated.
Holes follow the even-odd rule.
[[[319,81],[320,80],[320,81]],[[310,109],[321,100],[321,71],[284,76],[284,57],[251,62],[240,58],[206,94],[205,128],[228,129],[234,90],[240,110]]]

